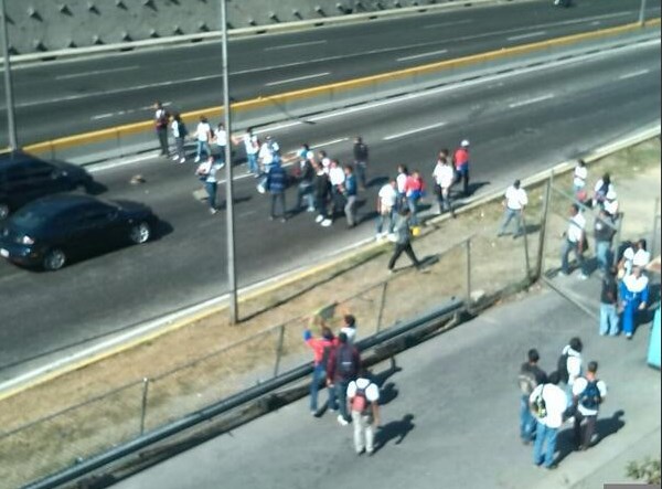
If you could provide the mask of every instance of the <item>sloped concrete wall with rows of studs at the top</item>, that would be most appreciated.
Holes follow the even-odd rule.
[[[227,0],[231,29],[453,0]],[[221,0],[6,0],[12,54],[216,31]]]

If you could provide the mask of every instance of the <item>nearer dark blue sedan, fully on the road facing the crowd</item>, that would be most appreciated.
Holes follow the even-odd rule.
[[[148,206],[135,202],[45,196],[0,225],[0,255],[19,265],[56,270],[72,258],[145,243],[156,222]]]

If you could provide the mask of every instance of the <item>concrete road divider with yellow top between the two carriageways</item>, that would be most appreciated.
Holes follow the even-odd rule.
[[[610,50],[619,45],[660,36],[660,19],[557,38],[456,60],[430,63],[329,85],[292,91],[232,104],[235,127],[261,126],[297,119],[375,99],[406,95],[463,79],[542,64],[586,51]],[[210,107],[183,114],[195,124],[201,115],[221,118],[222,107]],[[88,164],[121,158],[158,147],[151,121],[117,126],[50,141],[29,145],[24,149],[51,159]]]

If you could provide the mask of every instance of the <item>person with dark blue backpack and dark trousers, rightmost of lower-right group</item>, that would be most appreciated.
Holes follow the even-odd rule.
[[[586,375],[580,376],[573,384],[573,398],[577,405],[575,444],[579,450],[586,450],[590,446],[600,404],[607,397],[607,384],[597,378],[597,373],[598,362],[588,362]]]

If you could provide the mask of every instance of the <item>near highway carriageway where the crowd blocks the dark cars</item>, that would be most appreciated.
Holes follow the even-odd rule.
[[[238,167],[239,285],[372,236],[378,184],[397,163],[419,168],[429,182],[437,151],[469,138],[473,190],[492,191],[659,123],[660,89],[658,40],[269,128],[286,151],[308,141],[341,162],[349,160],[352,138],[363,135],[372,150],[373,184],[361,195],[363,222],[354,230],[344,220],[322,228],[307,213],[270,222],[268,199]],[[142,201],[167,223],[152,243],[52,274],[0,263],[0,381],[227,290],[225,214],[210,215],[192,196],[199,188],[193,170],[154,159],[94,172],[107,188],[104,196]],[[131,185],[136,173],[146,183]],[[293,192],[288,191],[289,205]]]

